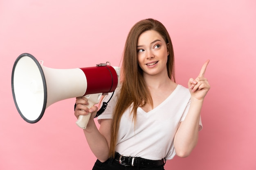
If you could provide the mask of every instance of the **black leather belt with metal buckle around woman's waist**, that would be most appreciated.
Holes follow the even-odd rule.
[[[116,153],[115,160],[123,166],[140,166],[140,167],[150,167],[150,166],[163,166],[166,162],[165,158],[161,160],[149,160],[140,157],[131,157],[127,155],[120,155]]]

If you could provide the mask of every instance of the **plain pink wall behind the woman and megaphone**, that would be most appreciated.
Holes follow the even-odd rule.
[[[0,0],[1,170],[90,170],[96,160],[75,124],[74,98],[36,124],[22,120],[11,93],[16,58],[28,52],[59,69],[118,66],[131,26],[148,17],[171,35],[177,83],[187,86],[211,60],[198,145],[165,169],[256,169],[255,0]]]

